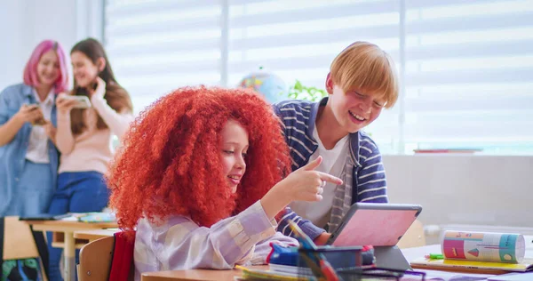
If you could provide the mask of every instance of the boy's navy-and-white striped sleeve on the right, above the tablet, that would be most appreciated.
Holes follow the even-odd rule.
[[[387,203],[385,168],[378,146],[362,135],[359,152],[362,166],[357,173],[357,201]]]

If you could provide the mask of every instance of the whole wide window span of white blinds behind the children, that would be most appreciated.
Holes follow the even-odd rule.
[[[105,41],[138,112],[182,85],[259,67],[323,88],[348,44],[391,53],[401,99],[366,131],[382,152],[533,154],[533,0],[107,0]]]

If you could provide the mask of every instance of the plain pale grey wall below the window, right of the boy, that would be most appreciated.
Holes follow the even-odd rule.
[[[533,157],[384,156],[383,162],[390,201],[423,205],[425,225],[533,229]]]

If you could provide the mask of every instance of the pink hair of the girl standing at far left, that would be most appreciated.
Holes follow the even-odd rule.
[[[39,60],[41,60],[41,56],[50,50],[54,50],[58,55],[58,59],[60,60],[60,76],[54,83],[54,92],[64,92],[68,87],[67,55],[65,54],[65,51],[63,51],[61,44],[52,40],[44,40],[43,42],[39,43],[34,52],[31,53],[31,56],[26,63],[26,67],[24,68],[24,84],[34,87],[39,85],[39,78],[37,77],[37,64],[39,63]]]

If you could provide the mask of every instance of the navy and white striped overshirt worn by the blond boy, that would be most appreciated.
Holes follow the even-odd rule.
[[[306,165],[318,148],[313,130],[318,109],[325,106],[328,98],[320,102],[307,100],[284,100],[274,104],[274,111],[282,120],[285,141],[290,148],[292,171]],[[378,146],[364,132],[350,133],[349,150],[346,155],[346,169],[341,176],[342,186],[337,186],[336,197],[331,206],[329,231],[335,229],[342,216],[355,202],[387,203],[385,169],[381,162]],[[319,203],[320,204],[320,203]],[[292,235],[287,221],[292,220],[312,239],[318,237],[326,226],[315,226],[286,208],[279,222],[278,230]]]

